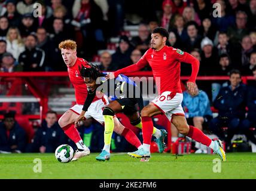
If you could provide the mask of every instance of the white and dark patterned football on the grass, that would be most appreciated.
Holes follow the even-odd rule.
[[[74,156],[74,150],[68,144],[62,144],[55,150],[55,157],[59,162],[70,162]]]

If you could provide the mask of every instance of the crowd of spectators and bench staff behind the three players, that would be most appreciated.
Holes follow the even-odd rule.
[[[35,2],[41,5],[41,17],[35,16]],[[213,14],[214,3],[221,5],[219,16]],[[127,25],[138,26],[138,36],[125,31]],[[256,0],[1,1],[1,72],[66,71],[58,48],[65,39],[77,42],[78,57],[88,61],[99,58],[101,70],[121,69],[136,63],[150,48],[151,30],[156,26],[169,31],[167,45],[200,60],[199,76],[230,76],[227,82],[197,81],[197,96],[184,91],[186,117],[228,145],[237,131],[256,144],[251,131],[256,125]],[[118,38],[117,43],[111,38]],[[191,66],[181,64],[181,75],[190,74]],[[242,76],[254,76],[255,81],[242,84]],[[217,118],[212,118],[211,106],[218,110]],[[56,127],[55,115],[47,113],[33,143],[25,148],[25,134],[19,125],[10,125],[14,117],[8,114],[0,125],[0,150],[53,152],[57,145],[68,141]],[[228,128],[227,135],[223,134],[223,127]],[[12,135],[14,129],[19,133]],[[89,121],[80,131],[86,137],[100,129]],[[14,144],[11,138],[21,141]],[[89,139],[93,140],[93,136]],[[85,143],[90,145],[93,141]],[[103,143],[97,144],[95,151]]]

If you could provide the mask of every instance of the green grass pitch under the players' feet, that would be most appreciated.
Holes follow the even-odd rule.
[[[139,162],[126,153],[112,153],[110,161],[99,162],[98,153],[66,164],[54,153],[0,154],[0,178],[256,178],[256,153],[227,153],[221,173],[213,172],[217,155],[153,153],[150,162]],[[35,158],[42,161],[42,172],[33,172]]]

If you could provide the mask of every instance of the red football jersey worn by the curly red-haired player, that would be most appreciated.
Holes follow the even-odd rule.
[[[77,58],[77,61],[75,61],[75,64],[72,67],[68,67],[68,75],[69,79],[72,83],[72,85],[75,88],[75,100],[77,101],[77,104],[84,104],[84,101],[86,101],[87,97],[87,86],[84,83],[84,79],[81,78],[78,66],[81,67],[81,65],[86,65],[88,62],[84,60],[83,58]],[[99,100],[100,98],[95,97],[93,101]]]

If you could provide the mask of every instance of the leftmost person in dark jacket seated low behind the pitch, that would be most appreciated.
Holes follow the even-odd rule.
[[[0,122],[0,153],[25,151],[26,133],[15,120],[14,113],[6,113]]]

